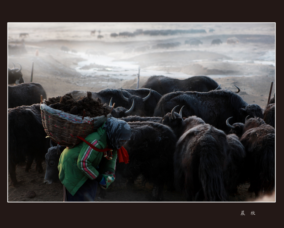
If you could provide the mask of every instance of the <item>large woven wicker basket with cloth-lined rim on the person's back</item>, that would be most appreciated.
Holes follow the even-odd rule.
[[[85,138],[96,131],[106,121],[110,114],[98,117],[80,117],[53,109],[45,104],[40,104],[42,124],[46,134],[56,143],[68,148],[75,147],[82,142],[77,136]]]

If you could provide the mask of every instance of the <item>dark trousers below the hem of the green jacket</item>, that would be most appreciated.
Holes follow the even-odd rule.
[[[87,179],[86,182],[78,189],[74,196],[63,186],[64,202],[87,202],[95,201],[98,182],[96,180]]]

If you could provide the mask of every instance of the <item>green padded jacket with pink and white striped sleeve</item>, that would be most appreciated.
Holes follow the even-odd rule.
[[[102,125],[104,126],[104,124]],[[85,138],[89,143],[98,149],[105,149],[106,129],[98,128],[96,132],[89,134]],[[93,150],[88,144],[82,142],[72,149],[65,149],[58,164],[59,180],[74,195],[78,189],[85,183],[87,178],[96,179],[99,172],[98,166],[102,168],[102,174],[106,171],[115,171],[117,150],[112,151],[112,160],[103,157],[103,152]]]

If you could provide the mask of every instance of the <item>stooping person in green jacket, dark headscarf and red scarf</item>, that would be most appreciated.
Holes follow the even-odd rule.
[[[132,129],[127,122],[110,117],[59,159],[59,180],[63,184],[64,202],[95,201],[98,183],[106,189],[115,180],[116,159],[128,163],[123,145],[130,140]]]

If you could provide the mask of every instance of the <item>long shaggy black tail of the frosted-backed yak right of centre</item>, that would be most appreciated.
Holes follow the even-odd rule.
[[[228,201],[223,179],[223,164],[217,159],[216,154],[204,150],[200,157],[199,180],[205,201]]]

